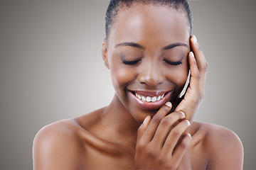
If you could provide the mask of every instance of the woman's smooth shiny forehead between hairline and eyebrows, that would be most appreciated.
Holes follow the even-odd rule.
[[[187,42],[189,26],[183,10],[169,6],[134,3],[119,9],[110,30],[114,41]]]

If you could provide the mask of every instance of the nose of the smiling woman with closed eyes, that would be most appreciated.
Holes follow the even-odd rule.
[[[154,87],[162,84],[165,80],[161,67],[156,62],[144,64],[142,72],[137,77],[141,84]]]

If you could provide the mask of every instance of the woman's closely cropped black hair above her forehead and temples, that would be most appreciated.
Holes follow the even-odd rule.
[[[107,7],[105,15],[105,34],[106,38],[110,33],[115,16],[117,16],[120,8],[129,8],[134,2],[142,4],[154,4],[161,6],[169,6],[176,10],[183,10],[186,13],[190,35],[192,34],[192,14],[187,0],[111,0]]]

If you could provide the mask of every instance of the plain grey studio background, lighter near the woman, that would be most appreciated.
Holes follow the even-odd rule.
[[[0,169],[32,169],[36,132],[110,103],[101,57],[108,1],[0,1]],[[238,134],[255,169],[255,1],[190,1],[208,60],[197,121]]]

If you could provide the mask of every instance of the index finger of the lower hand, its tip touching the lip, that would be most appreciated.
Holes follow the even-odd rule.
[[[146,131],[142,136],[142,140],[144,142],[150,142],[153,139],[159,123],[161,122],[162,118],[164,118],[169,113],[169,111],[171,111],[171,102],[167,102],[164,104],[164,106],[161,106],[159,111],[151,119],[148,128],[146,128]]]

